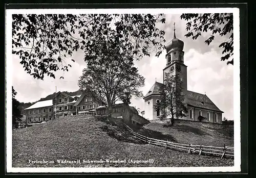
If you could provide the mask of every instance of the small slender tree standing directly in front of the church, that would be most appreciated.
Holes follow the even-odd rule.
[[[187,108],[184,104],[185,97],[182,92],[182,81],[179,75],[165,73],[164,85],[160,89],[160,102],[154,106],[155,111],[160,110],[160,119],[170,117],[172,125],[174,118],[185,117]]]

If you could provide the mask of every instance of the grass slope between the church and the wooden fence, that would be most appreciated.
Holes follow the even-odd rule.
[[[193,124],[175,123],[174,125],[166,125],[160,121],[152,121],[143,126],[139,133],[157,139],[173,141],[183,144],[197,144],[207,146],[233,146],[234,138],[230,128],[214,128],[202,125],[200,122]]]

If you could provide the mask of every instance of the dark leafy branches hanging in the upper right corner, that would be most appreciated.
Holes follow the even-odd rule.
[[[188,21],[186,23],[185,34],[186,37],[192,37],[196,40],[201,33],[210,31],[211,35],[205,43],[209,45],[214,39],[215,35],[221,36],[230,35],[227,41],[222,42],[219,47],[223,49],[223,56],[221,61],[227,60],[227,65],[233,65],[233,14],[232,13],[221,13],[221,14],[182,14],[181,19]]]

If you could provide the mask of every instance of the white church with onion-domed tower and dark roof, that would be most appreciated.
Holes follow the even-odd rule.
[[[185,106],[188,109],[186,117],[176,119],[222,123],[223,111],[206,94],[187,90],[187,66],[184,64],[183,46],[184,42],[176,38],[174,27],[174,37],[166,46],[166,66],[163,69],[163,81],[164,73],[179,74],[182,81],[182,94],[185,97]],[[160,111],[155,111],[154,106],[160,102],[160,88],[162,86],[163,83],[155,82],[143,98],[144,111],[141,114],[147,120],[155,120],[160,116]]]

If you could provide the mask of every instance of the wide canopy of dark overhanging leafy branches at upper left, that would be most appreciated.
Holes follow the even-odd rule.
[[[163,14],[13,14],[12,53],[34,78],[45,74],[55,78],[57,70],[68,71],[74,50],[84,53],[86,62],[99,55],[101,39],[117,40],[129,48],[136,59],[156,56],[165,46],[164,31],[156,27],[164,23]],[[96,57],[95,57],[96,56]],[[63,77],[60,77],[63,78]]]

